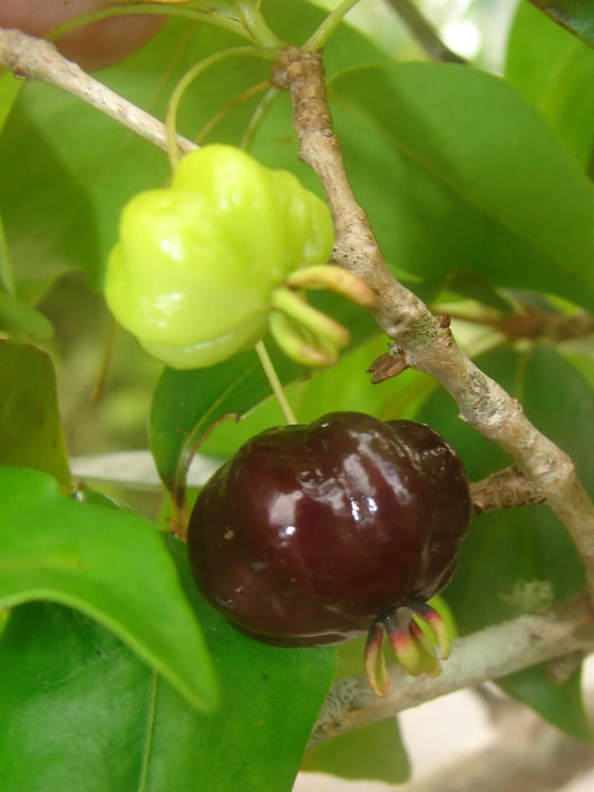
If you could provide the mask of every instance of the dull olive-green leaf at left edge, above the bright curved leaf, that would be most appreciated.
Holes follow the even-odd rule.
[[[43,470],[64,487],[70,483],[51,359],[9,341],[0,341],[0,465]]]

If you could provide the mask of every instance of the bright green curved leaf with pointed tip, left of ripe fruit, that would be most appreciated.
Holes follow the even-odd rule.
[[[49,476],[0,471],[0,606],[50,599],[111,629],[201,710],[216,684],[163,537],[128,511],[76,502]]]

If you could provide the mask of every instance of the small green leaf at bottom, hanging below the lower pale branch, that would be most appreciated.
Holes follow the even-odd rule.
[[[410,775],[396,717],[317,745],[305,754],[302,770],[343,779],[383,781],[387,784],[401,784]]]

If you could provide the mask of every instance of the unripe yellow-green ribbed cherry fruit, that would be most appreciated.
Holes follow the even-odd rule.
[[[106,300],[147,352],[176,369],[252,348],[271,313],[286,310],[290,346],[301,307],[314,310],[283,284],[324,265],[332,244],[328,206],[292,174],[214,144],[184,157],[169,188],[140,193],[124,208]]]

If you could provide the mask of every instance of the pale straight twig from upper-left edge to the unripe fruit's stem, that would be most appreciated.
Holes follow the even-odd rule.
[[[0,28],[0,63],[16,77],[50,82],[62,88],[164,151],[167,150],[164,124],[64,58],[49,41],[27,36],[20,30]],[[181,135],[177,135],[177,146],[184,153],[196,148],[195,143]]]

